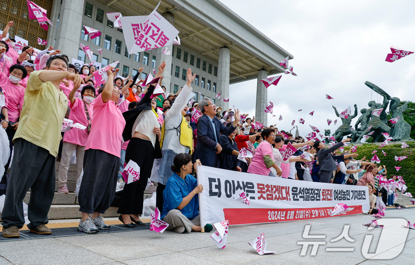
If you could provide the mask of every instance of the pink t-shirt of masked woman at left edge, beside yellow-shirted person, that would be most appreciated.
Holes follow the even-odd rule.
[[[7,113],[11,122],[20,117],[20,109],[23,107],[24,87],[13,84],[4,72],[0,72],[0,87],[3,89],[7,106]]]

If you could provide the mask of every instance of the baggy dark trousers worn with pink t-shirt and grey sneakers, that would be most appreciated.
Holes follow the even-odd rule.
[[[83,176],[78,194],[81,212],[104,214],[110,207],[117,187],[120,160],[120,157],[103,150],[85,150]]]

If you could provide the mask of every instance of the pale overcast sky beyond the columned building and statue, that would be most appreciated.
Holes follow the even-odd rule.
[[[294,56],[289,64],[298,76],[284,75],[268,88],[274,104],[268,124],[279,130],[298,125],[300,135],[314,125],[332,134],[342,124],[339,112],[349,105],[369,108],[381,97],[367,87],[369,81],[392,97],[415,101],[415,54],[393,63],[385,61],[395,46],[415,51],[415,1],[265,1],[222,0],[227,7]],[[257,80],[230,85],[229,106],[246,104],[243,113],[255,113]],[[329,94],[334,99],[325,99]],[[298,112],[297,109],[303,111]],[[388,106],[389,109],[389,106]],[[314,116],[308,115],[314,111]],[[279,115],[283,120],[278,121]],[[276,115],[276,117],[272,117]],[[298,123],[303,118],[304,125]],[[327,125],[327,118],[338,120]],[[295,130],[293,130],[295,133]]]

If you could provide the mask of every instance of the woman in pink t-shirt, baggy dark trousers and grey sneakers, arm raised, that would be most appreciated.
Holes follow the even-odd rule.
[[[101,214],[105,213],[114,199],[120,168],[125,120],[115,106],[121,92],[114,86],[112,69],[114,67],[107,72],[108,80],[102,93],[94,100],[94,118],[83,157],[83,176],[78,194],[82,219],[78,229],[85,233],[110,228],[104,223]],[[90,214],[92,217],[89,217]]]

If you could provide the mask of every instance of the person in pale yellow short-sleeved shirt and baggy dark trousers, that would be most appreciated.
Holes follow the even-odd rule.
[[[29,188],[27,227],[37,234],[51,234],[45,224],[55,192],[55,159],[68,108],[68,99],[59,88],[64,78],[78,87],[83,83],[80,75],[68,72],[66,58],[53,56],[46,70],[32,72],[27,82],[1,214],[5,237],[20,236],[19,229],[24,225],[22,202]]]

